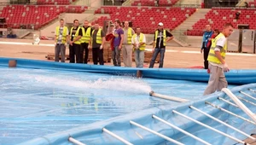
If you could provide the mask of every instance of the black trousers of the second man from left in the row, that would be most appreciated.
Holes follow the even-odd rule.
[[[70,63],[81,63],[81,45],[73,44],[73,46],[69,45],[69,61]]]

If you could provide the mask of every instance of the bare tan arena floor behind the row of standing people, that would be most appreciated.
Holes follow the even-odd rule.
[[[54,53],[53,44],[52,40],[42,40],[39,45],[33,45],[32,39],[0,38],[0,56],[49,61],[45,58],[45,55]],[[152,49],[152,46],[148,45],[147,49]],[[68,53],[68,49],[66,49],[66,52]],[[228,53],[226,62],[230,69],[255,69],[256,55]],[[112,63],[106,63],[106,65],[112,65]],[[148,65],[148,63],[145,63],[144,67],[148,67]],[[200,53],[199,47],[166,47],[164,67],[202,66],[203,55]],[[135,67],[135,64],[133,64],[133,67]],[[156,63],[154,67],[158,67],[158,64]]]

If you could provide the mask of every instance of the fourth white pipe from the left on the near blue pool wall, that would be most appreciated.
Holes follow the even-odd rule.
[[[194,136],[193,134],[189,133],[188,131],[184,131],[183,129],[177,127],[176,125],[172,125],[171,123],[167,122],[167,121],[164,120],[164,119],[160,119],[159,117],[157,117],[157,116],[155,116],[155,115],[152,115],[152,117],[153,117],[154,119],[157,119],[157,120],[161,121],[162,123],[164,123],[164,124],[166,124],[166,125],[171,126],[172,128],[176,129],[177,131],[183,132],[183,134],[185,134],[185,135],[187,135],[187,136],[190,136],[190,137],[194,138],[195,140],[197,140],[197,141],[199,141],[199,142],[202,142],[202,143],[207,144],[207,145],[211,145],[211,143],[206,142],[206,141],[202,140],[201,138],[199,138],[199,137],[197,137],[197,136]]]

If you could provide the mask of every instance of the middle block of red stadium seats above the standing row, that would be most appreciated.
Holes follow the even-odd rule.
[[[192,8],[166,8],[166,7],[102,7],[97,9],[96,14],[110,14],[108,17],[101,17],[96,20],[100,25],[104,20],[130,20],[133,27],[140,26],[142,32],[153,33],[157,24],[163,22],[165,28],[174,29],[195,13]]]

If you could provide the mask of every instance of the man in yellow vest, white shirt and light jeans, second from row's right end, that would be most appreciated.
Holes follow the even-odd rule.
[[[146,37],[141,32],[140,27],[137,27],[136,34],[132,36],[131,44],[133,45],[133,48],[134,48],[134,59],[135,59],[136,67],[143,68],[144,51],[146,49]]]

